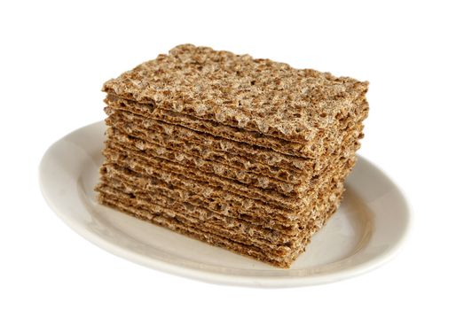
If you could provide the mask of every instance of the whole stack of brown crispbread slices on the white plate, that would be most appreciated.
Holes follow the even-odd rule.
[[[99,201],[277,267],[339,205],[368,111],[367,82],[190,44],[103,90]]]

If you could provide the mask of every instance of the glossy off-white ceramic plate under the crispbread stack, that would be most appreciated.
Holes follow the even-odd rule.
[[[359,158],[340,209],[290,269],[279,269],[178,235],[98,205],[93,191],[103,161],[105,124],[51,145],[39,179],[51,209],[93,244],[147,267],[234,285],[288,287],[362,274],[389,260],[405,239],[410,213],[389,178]]]

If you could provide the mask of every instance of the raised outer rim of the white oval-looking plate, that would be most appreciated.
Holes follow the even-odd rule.
[[[413,212],[412,208],[409,204],[405,193],[401,188],[397,185],[396,182],[393,182],[393,179],[389,177],[389,174],[386,174],[380,167],[376,166],[373,162],[366,159],[363,156],[357,155],[358,158],[363,159],[366,161],[366,164],[370,166],[370,168],[377,170],[378,173],[382,174],[386,179],[389,180],[391,185],[397,191],[398,197],[403,200],[403,205],[405,206],[405,227],[403,228],[403,234],[397,240],[397,243],[394,244],[389,248],[389,251],[383,252],[380,255],[377,255],[372,260],[368,260],[362,264],[355,265],[353,267],[348,267],[342,269],[336,273],[325,273],[325,274],[316,274],[316,275],[302,275],[298,277],[277,277],[277,276],[253,276],[253,275],[231,275],[225,273],[217,273],[214,271],[209,271],[205,269],[197,269],[194,267],[185,267],[179,266],[175,264],[170,264],[169,262],[165,262],[162,260],[155,260],[153,258],[149,258],[140,254],[138,252],[132,252],[129,249],[123,247],[122,245],[114,244],[110,241],[105,240],[104,238],[93,234],[90,230],[85,229],[85,227],[77,221],[73,217],[67,216],[67,214],[61,211],[61,207],[56,205],[51,197],[46,192],[44,188],[44,175],[43,170],[45,166],[45,160],[48,156],[51,155],[51,151],[53,148],[61,143],[64,139],[68,136],[74,136],[78,134],[80,131],[84,129],[90,129],[93,127],[99,127],[104,125],[104,120],[99,120],[83,126],[81,128],[77,128],[65,136],[60,137],[54,143],[47,148],[47,150],[43,153],[43,157],[40,160],[40,164],[38,167],[38,182],[39,187],[42,192],[43,198],[47,205],[51,208],[53,213],[55,213],[61,221],[63,221],[70,229],[73,229],[75,233],[82,236],[84,239],[89,241],[91,244],[97,245],[99,248],[105,250],[106,252],[110,252],[122,259],[130,260],[132,262],[137,263],[138,265],[153,268],[159,270],[161,272],[169,273],[171,275],[183,276],[193,280],[198,280],[201,282],[206,283],[220,283],[220,284],[227,284],[233,286],[248,286],[248,287],[273,287],[273,288],[285,288],[285,287],[301,287],[301,286],[308,286],[308,285],[319,285],[325,283],[333,283],[338,282],[341,280],[345,280],[354,276],[363,275],[367,272],[370,272],[377,267],[381,267],[385,263],[388,263],[394,257],[397,256],[398,252],[403,248],[403,245],[406,243],[408,236],[410,235],[411,226],[413,222]]]

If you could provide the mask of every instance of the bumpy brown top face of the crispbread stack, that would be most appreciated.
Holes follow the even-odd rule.
[[[367,82],[269,59],[179,45],[104,91],[204,120],[305,143],[352,110]]]

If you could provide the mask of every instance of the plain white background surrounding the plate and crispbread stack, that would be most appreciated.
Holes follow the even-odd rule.
[[[0,308],[461,308],[464,39],[455,3],[350,1],[0,4]],[[340,283],[259,290],[200,283],[100,250],[43,201],[47,147],[102,120],[102,83],[180,43],[371,82],[360,154],[413,207],[389,264]]]

